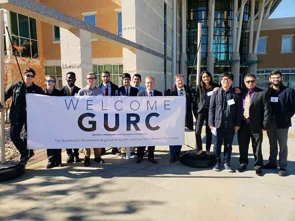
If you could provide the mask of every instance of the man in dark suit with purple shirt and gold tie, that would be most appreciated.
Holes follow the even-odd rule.
[[[242,123],[238,131],[238,145],[240,166],[238,172],[246,170],[248,165],[248,150],[250,138],[255,158],[254,169],[256,175],[263,176],[261,167],[262,157],[262,130],[266,130],[270,123],[270,102],[267,93],[256,87],[256,77],[248,74],[244,77],[245,88],[241,95]]]

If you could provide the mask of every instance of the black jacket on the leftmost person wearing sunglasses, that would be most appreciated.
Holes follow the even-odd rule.
[[[28,93],[32,94],[44,94],[41,87],[36,84],[27,88]],[[12,102],[10,106],[9,119],[11,123],[18,123],[20,120],[26,120],[26,90],[23,82],[13,83],[5,91],[5,101],[12,96]]]

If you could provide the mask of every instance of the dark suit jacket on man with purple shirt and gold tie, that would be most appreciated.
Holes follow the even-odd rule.
[[[241,94],[243,94],[242,91]],[[241,98],[242,105],[242,98]],[[241,106],[241,110],[242,110]],[[241,112],[243,119],[243,112]],[[250,128],[252,133],[260,133],[261,129],[267,129],[271,120],[270,98],[265,90],[255,87],[251,100],[250,109]]]

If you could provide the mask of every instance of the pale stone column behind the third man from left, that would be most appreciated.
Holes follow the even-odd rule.
[[[62,84],[66,85],[66,73],[76,74],[76,85],[87,85],[87,73],[92,71],[91,33],[82,29],[60,28],[60,59]]]

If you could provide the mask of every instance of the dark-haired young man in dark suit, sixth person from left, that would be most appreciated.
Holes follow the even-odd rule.
[[[136,87],[133,87],[130,85],[130,82],[131,82],[130,74],[124,73],[122,76],[122,79],[123,79],[124,86],[119,87],[119,89],[118,89],[119,95],[133,96],[133,97],[137,96],[139,91]],[[131,158],[136,157],[135,147],[130,147],[130,157]],[[121,159],[126,158],[126,147],[122,147],[120,158]]]

